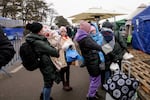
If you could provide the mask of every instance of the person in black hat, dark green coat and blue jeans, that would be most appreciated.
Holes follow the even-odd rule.
[[[40,72],[43,76],[44,86],[40,100],[53,100],[50,97],[53,82],[61,82],[60,74],[49,56],[59,57],[59,50],[52,47],[43,33],[43,25],[38,22],[28,23],[26,29],[31,31],[26,36],[26,42],[33,45],[35,52],[40,57]]]

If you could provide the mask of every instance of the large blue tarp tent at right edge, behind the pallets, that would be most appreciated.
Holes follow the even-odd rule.
[[[150,54],[150,6],[133,17],[132,46]]]

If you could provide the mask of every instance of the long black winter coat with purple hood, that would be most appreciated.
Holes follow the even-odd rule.
[[[98,45],[88,33],[79,29],[76,33],[75,40],[78,42],[85,65],[90,76],[97,77],[100,75],[99,55],[101,46]]]

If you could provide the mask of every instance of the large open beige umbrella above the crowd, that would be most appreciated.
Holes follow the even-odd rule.
[[[115,11],[109,11],[102,8],[90,8],[85,12],[70,16],[73,22],[78,22],[80,20],[99,20],[107,19],[118,15],[125,15],[124,13],[119,13]]]

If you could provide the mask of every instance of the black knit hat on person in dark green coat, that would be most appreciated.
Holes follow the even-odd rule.
[[[38,33],[43,28],[43,25],[38,22],[28,23],[26,25],[26,29],[31,31],[32,33]]]

